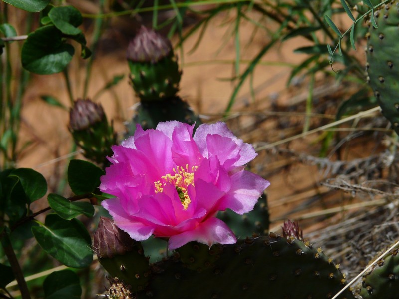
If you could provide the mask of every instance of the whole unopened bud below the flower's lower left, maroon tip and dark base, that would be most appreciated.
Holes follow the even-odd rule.
[[[101,217],[93,247],[99,262],[112,277],[130,285],[132,292],[144,289],[151,273],[140,242],[130,238],[111,219]]]

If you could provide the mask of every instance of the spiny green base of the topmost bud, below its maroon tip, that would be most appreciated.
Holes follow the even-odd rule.
[[[133,89],[141,101],[163,101],[179,91],[182,72],[173,51],[157,62],[128,63]]]

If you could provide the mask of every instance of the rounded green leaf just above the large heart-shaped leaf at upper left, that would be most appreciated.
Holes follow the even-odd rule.
[[[82,15],[73,6],[54,7],[48,13],[55,27],[66,35],[78,35],[82,31],[77,28],[82,24]]]

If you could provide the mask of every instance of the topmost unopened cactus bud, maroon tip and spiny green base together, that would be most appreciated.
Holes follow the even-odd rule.
[[[182,72],[170,41],[142,26],[127,50],[130,79],[142,101],[159,101],[176,95]]]

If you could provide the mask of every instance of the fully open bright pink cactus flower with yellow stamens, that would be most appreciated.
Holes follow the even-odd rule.
[[[190,241],[233,244],[231,229],[216,218],[227,208],[253,209],[269,182],[245,171],[257,154],[225,123],[159,123],[113,146],[112,165],[100,189],[115,198],[102,202],[115,224],[137,241],[168,239],[175,249]]]

